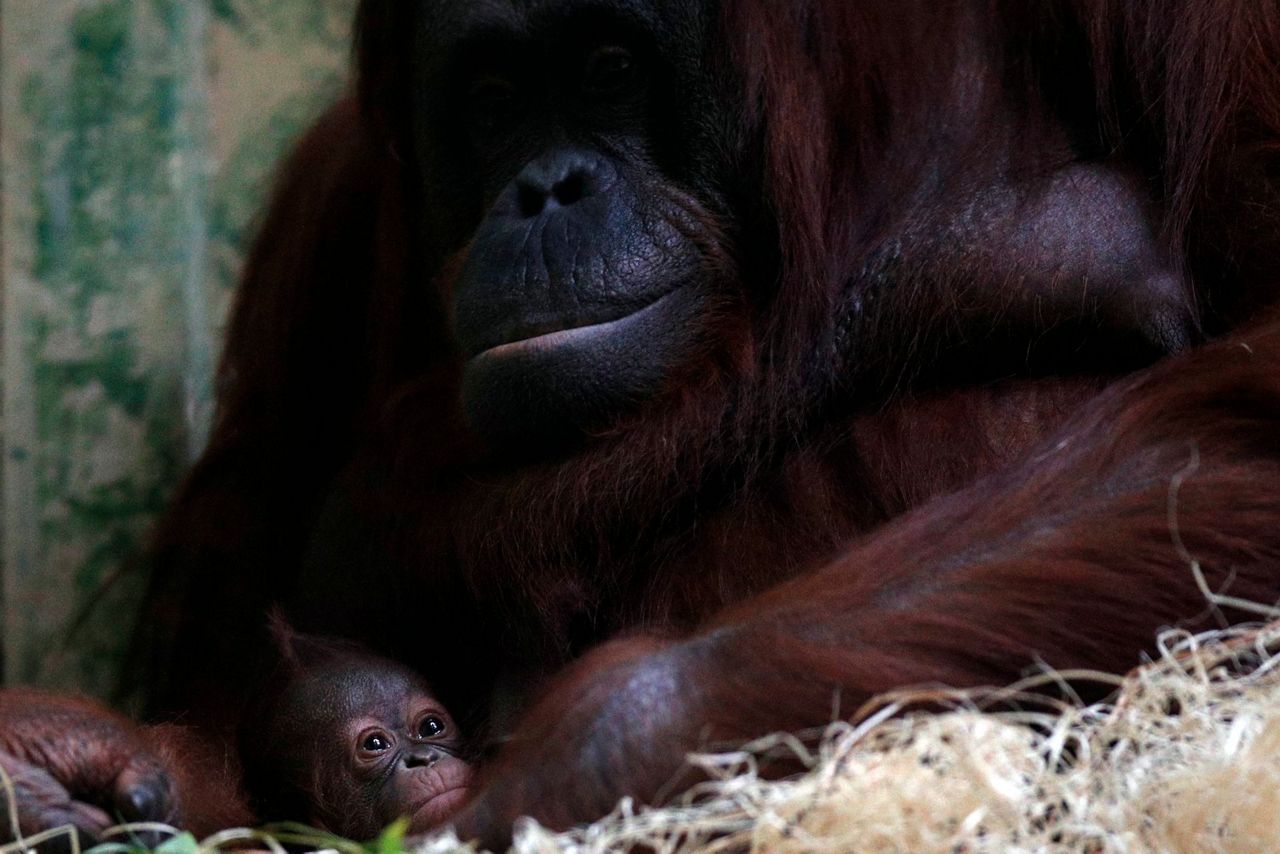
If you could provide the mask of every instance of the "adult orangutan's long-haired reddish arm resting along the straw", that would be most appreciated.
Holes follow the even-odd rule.
[[[1002,685],[1037,659],[1121,672],[1158,626],[1249,617],[1211,608],[1192,561],[1213,590],[1280,594],[1277,426],[1280,323],[1119,384],[1020,465],[823,570],[684,640],[591,653],[526,717],[463,827],[524,810],[568,825],[612,807],[600,768],[652,796],[689,750],[820,726],[902,685]]]

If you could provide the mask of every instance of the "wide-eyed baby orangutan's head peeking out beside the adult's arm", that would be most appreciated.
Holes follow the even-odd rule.
[[[466,802],[460,732],[420,676],[279,618],[273,631],[282,665],[239,732],[260,821],[369,840],[401,817],[430,830]]]

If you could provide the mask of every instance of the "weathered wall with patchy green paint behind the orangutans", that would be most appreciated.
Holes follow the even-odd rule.
[[[0,650],[106,691],[241,247],[355,0],[0,0]]]

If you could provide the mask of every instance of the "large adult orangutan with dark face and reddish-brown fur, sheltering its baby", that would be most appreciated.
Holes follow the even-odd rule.
[[[155,708],[216,739],[280,603],[488,727],[502,841],[837,695],[1125,670],[1219,616],[1193,562],[1280,598],[1277,92],[1268,3],[365,0],[157,539]],[[163,732],[36,702],[0,745],[63,803],[122,789],[46,759],[90,718],[212,821]]]

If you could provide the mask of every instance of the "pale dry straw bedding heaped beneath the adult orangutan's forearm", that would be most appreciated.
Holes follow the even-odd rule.
[[[622,804],[559,836],[526,825],[516,849],[1280,851],[1280,624],[1166,632],[1158,648],[1106,705],[979,711],[1030,684],[955,695],[945,714],[902,716],[911,698],[887,698],[860,723],[832,726],[812,754],[772,739],[695,757],[713,782],[684,805]],[[760,780],[755,757],[780,749],[812,771]]]

